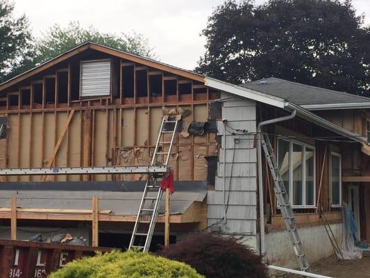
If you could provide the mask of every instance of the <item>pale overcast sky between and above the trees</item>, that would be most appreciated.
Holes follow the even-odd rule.
[[[99,31],[142,33],[158,60],[192,70],[205,49],[200,36],[212,10],[224,0],[15,0],[15,13],[25,13],[34,35],[57,23],[78,21]],[[263,3],[264,0],[255,0]],[[370,24],[370,0],[353,0]]]

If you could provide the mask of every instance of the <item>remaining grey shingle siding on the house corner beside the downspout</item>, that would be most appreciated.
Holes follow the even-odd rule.
[[[228,97],[228,95],[223,96]],[[230,98],[223,102],[222,118],[228,121],[226,145],[224,124],[217,124],[221,136],[215,190],[208,190],[208,226],[219,226],[223,234],[256,234],[257,182],[254,135],[233,135],[232,129],[255,132],[255,101]],[[224,158],[226,149],[226,159]],[[224,160],[226,160],[226,195],[224,195]],[[230,177],[231,176],[231,177]],[[227,221],[224,223],[224,201]]]

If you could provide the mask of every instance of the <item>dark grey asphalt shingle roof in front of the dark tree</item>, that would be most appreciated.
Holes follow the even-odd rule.
[[[348,104],[348,103],[370,103],[369,97],[351,95],[346,92],[327,90],[301,83],[295,83],[284,79],[269,77],[249,83],[240,84],[244,88],[249,88],[267,95],[281,97],[287,101],[300,106],[314,104]]]

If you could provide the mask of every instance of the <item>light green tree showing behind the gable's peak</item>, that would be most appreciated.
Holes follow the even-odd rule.
[[[24,63],[15,67],[8,75],[8,78],[40,65],[87,41],[103,44],[107,47],[139,56],[148,58],[153,58],[154,56],[153,49],[149,47],[148,41],[137,33],[121,33],[120,35],[102,33],[92,26],[83,28],[78,22],[70,22],[65,28],[54,24],[42,38],[35,40],[31,58],[24,60]]]

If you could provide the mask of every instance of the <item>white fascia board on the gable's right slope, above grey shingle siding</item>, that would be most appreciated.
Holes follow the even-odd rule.
[[[210,77],[204,78],[204,85],[221,90],[224,92],[229,92],[230,94],[237,95],[239,97],[245,97],[246,99],[253,99],[255,101],[262,102],[264,104],[269,104],[271,106],[276,106],[278,108],[285,107],[285,99],[280,97],[274,97],[271,95],[264,94],[255,90],[250,90],[242,86],[233,85],[224,81],[219,81],[217,79],[212,79]]]

